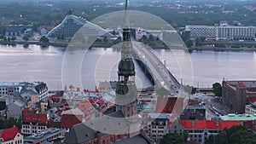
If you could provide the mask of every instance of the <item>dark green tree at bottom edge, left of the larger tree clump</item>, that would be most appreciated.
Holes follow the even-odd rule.
[[[184,137],[177,133],[170,133],[164,135],[163,139],[160,141],[160,144],[183,144]]]

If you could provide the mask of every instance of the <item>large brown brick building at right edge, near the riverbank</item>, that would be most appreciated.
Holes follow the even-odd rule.
[[[244,113],[245,106],[256,97],[256,81],[223,81],[223,104],[231,111]]]

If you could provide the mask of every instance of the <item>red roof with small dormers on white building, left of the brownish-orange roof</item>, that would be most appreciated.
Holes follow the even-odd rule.
[[[29,112],[29,107],[22,111],[23,123],[47,124],[47,115],[45,113]]]

